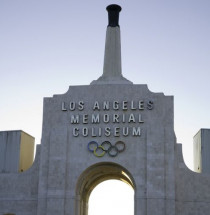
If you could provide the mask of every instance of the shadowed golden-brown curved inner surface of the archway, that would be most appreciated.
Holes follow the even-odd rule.
[[[117,179],[129,184],[135,192],[135,182],[131,174],[116,163],[104,162],[90,166],[79,177],[76,196],[76,215],[88,215],[88,201],[92,190],[101,182]]]

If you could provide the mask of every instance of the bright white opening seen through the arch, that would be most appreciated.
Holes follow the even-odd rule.
[[[134,215],[134,190],[119,180],[106,180],[90,194],[89,215]]]

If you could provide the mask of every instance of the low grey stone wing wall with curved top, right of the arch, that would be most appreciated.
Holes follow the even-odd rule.
[[[191,171],[177,145],[176,214],[204,215],[210,211],[210,175]]]

